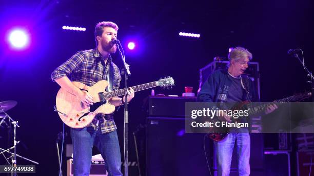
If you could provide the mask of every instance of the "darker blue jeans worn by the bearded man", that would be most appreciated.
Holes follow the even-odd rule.
[[[108,176],[122,175],[121,154],[116,131],[102,133],[100,127],[81,129],[71,128],[73,142],[74,176],[88,176],[90,171],[92,148],[95,145],[105,160]]]

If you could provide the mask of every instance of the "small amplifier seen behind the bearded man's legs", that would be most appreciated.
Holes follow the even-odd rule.
[[[69,159],[67,162],[67,176],[73,176],[74,167],[73,167],[73,159]],[[92,159],[90,165],[90,176],[107,176],[107,171],[105,168],[104,160]]]

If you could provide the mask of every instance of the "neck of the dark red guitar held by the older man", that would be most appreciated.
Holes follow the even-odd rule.
[[[266,104],[263,104],[263,105],[260,105],[257,107],[250,108],[248,113],[250,115],[261,113],[261,112],[264,112],[265,109],[269,105],[276,104],[279,106],[279,105],[286,103],[286,102],[300,101],[300,100],[305,99],[306,97],[308,97],[307,94],[292,95],[292,96],[286,97],[285,99],[276,100],[276,101],[271,102],[271,103],[266,103]]]

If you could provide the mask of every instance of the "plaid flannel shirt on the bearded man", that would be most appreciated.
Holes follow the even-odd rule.
[[[76,52],[69,60],[57,67],[51,73],[52,81],[63,76],[71,76],[71,81],[81,82],[87,86],[93,86],[101,80],[107,80],[109,72],[109,63],[112,62],[109,56],[106,66],[102,63],[103,57],[97,49]],[[119,68],[114,64],[114,80],[113,90],[119,89],[121,74]],[[95,129],[98,127],[99,121],[102,133],[107,133],[116,130],[116,125],[112,114],[97,114],[93,122],[89,126]]]

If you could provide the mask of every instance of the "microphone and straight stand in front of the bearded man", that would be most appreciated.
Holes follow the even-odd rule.
[[[122,75],[124,75],[124,79],[125,79],[125,92],[124,92],[124,96],[125,96],[125,100],[124,100],[124,175],[128,176],[128,125],[129,125],[129,114],[128,114],[128,99],[127,99],[127,95],[128,95],[128,76],[131,75],[130,72],[130,68],[129,65],[125,62],[125,55],[124,55],[124,51],[122,48],[122,45],[120,43],[119,40],[116,40],[116,48],[117,50],[119,50],[119,53],[121,55],[122,58],[122,62],[124,65],[124,69],[122,69],[121,73]],[[121,47],[121,49],[120,49]]]

